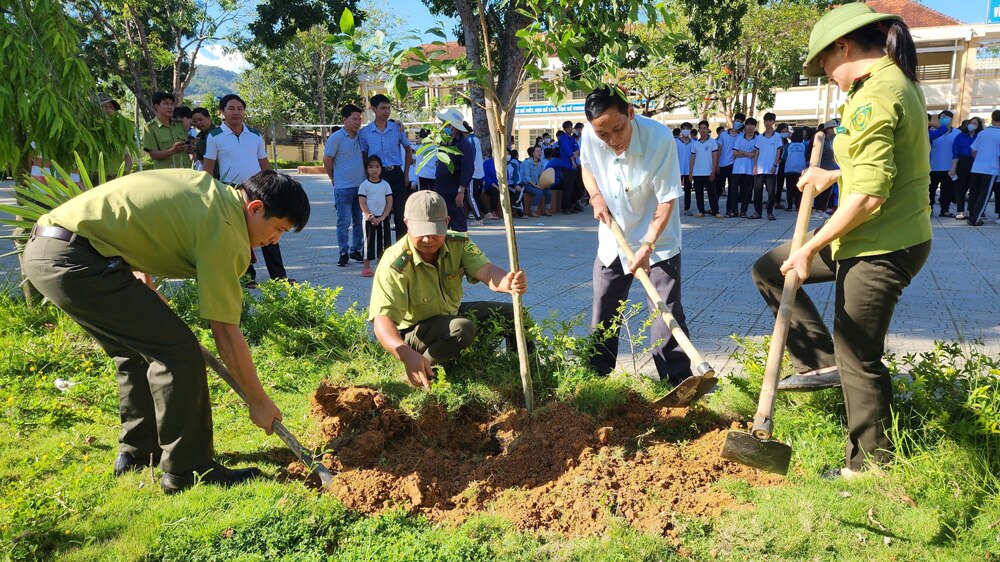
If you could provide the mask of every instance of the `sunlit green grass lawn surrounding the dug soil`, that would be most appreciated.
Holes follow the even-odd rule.
[[[172,285],[167,292],[212,349],[197,320],[192,286]],[[398,366],[369,338],[360,312],[336,312],[336,295],[269,282],[245,305],[243,327],[262,382],[282,408],[286,426],[307,446],[324,446],[318,420],[310,414],[310,397],[324,380],[377,389],[417,420],[428,404],[453,419],[468,408],[499,414],[520,404],[516,358],[502,350],[495,329],[487,327],[481,342],[449,365],[432,391],[417,391],[402,384]],[[533,493],[529,484],[511,487],[507,499],[486,504],[460,523],[405,505],[348,509],[334,495],[290,476],[291,453],[255,428],[239,398],[211,374],[218,459],[228,466],[259,466],[269,478],[231,489],[197,486],[175,496],[160,490],[158,470],[114,478],[119,431],[114,366],[62,313],[49,306],[29,308],[13,289],[0,291],[0,318],[4,559],[983,561],[1000,556],[1000,362],[975,348],[942,343],[921,356],[891,358],[899,454],[877,474],[851,482],[821,479],[824,469],[843,462],[842,397],[839,391],[782,395],[776,437],[794,449],[786,480],[753,485],[719,478],[711,493],[729,498],[726,505],[732,507],[699,514],[667,509],[669,533],[630,524],[627,511],[617,506],[601,533],[574,535],[527,529],[499,508]],[[534,361],[542,404],[537,416],[545,415],[546,405],[563,402],[600,425],[619,419],[614,416],[624,404],[646,403],[667,390],[629,376],[593,377],[581,361],[590,343],[570,335],[570,326],[540,321],[533,330],[540,342]],[[609,465],[640,462],[657,442],[683,451],[688,439],[693,450],[694,439],[706,431],[702,420],[749,419],[765,348],[759,341],[743,344],[745,376],[720,384],[681,422],[652,428],[652,444],[612,442],[598,456],[607,456]],[[57,379],[75,384],[63,391]]]

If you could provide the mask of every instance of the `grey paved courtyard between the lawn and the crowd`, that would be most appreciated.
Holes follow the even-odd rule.
[[[341,307],[355,302],[367,306],[371,280],[361,277],[361,265],[336,265],[335,211],[329,182],[320,176],[299,179],[312,202],[312,219],[301,233],[282,239],[289,275],[343,287]],[[10,202],[10,198],[8,182],[0,186],[0,202]],[[773,327],[774,317],[753,286],[750,267],[761,253],[791,237],[795,214],[782,210],[776,214],[777,221],[682,217],[683,303],[691,339],[720,373],[737,368],[729,358],[737,347],[730,334],[760,337],[770,334]],[[890,351],[925,351],[935,339],[980,339],[987,350],[1000,353],[1000,225],[992,218],[981,228],[954,219],[933,219],[934,248],[897,307],[887,342]],[[592,215],[517,219],[516,226],[521,266],[529,281],[525,304],[536,317],[555,313],[561,319],[580,317],[586,325],[597,247]],[[490,258],[506,266],[501,226],[473,227],[471,235]],[[9,241],[0,241],[0,253],[10,247]],[[0,260],[0,277],[15,270],[13,258]],[[258,272],[266,277],[263,264],[258,265]],[[828,323],[832,322],[832,284],[807,290]],[[467,288],[466,295],[467,299],[502,298],[478,284]],[[639,283],[634,284],[631,298],[644,302]],[[643,318],[632,325],[638,326]],[[580,333],[584,331],[581,327]],[[628,351],[623,340],[623,359],[628,358]],[[651,361],[637,362],[640,371],[652,371]],[[632,361],[619,365],[631,369]]]

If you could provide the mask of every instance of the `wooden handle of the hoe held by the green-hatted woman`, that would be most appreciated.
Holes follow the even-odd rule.
[[[823,157],[823,142],[826,135],[817,132],[813,137],[813,149],[809,156],[809,166],[818,167]],[[790,254],[794,254],[805,243],[809,234],[809,217],[812,215],[813,199],[816,190],[812,184],[807,184],[802,190],[802,201],[799,203],[799,214],[795,220],[795,231],[792,235]],[[791,322],[792,305],[799,290],[801,279],[795,270],[785,274],[785,284],[781,289],[781,302],[774,318],[774,331],[771,332],[771,346],[767,351],[767,364],[764,367],[764,381],[760,388],[760,399],[757,401],[757,414],[754,416],[752,432],[758,439],[770,439],[773,429],[774,399],[778,387],[778,377],[781,375],[781,362],[785,355],[785,343],[788,341],[788,326]]]

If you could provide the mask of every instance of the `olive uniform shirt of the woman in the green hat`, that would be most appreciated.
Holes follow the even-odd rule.
[[[885,202],[869,220],[833,241],[833,259],[877,256],[930,240],[931,147],[920,87],[882,57],[854,81],[840,114],[843,125],[833,151],[841,169],[841,202],[853,193]]]

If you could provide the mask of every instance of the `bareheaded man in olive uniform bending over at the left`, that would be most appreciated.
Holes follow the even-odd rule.
[[[205,360],[151,276],[198,282],[201,316],[248,396],[250,419],[270,434],[281,412],[261,386],[240,332],[240,276],[250,247],[277,243],[308,220],[299,182],[270,170],[236,187],[194,170],[140,172],[38,219],[24,250],[25,275],[118,367],[116,476],[159,462],[160,486],[172,493],[199,478],[229,485],[260,474],[212,460]]]

